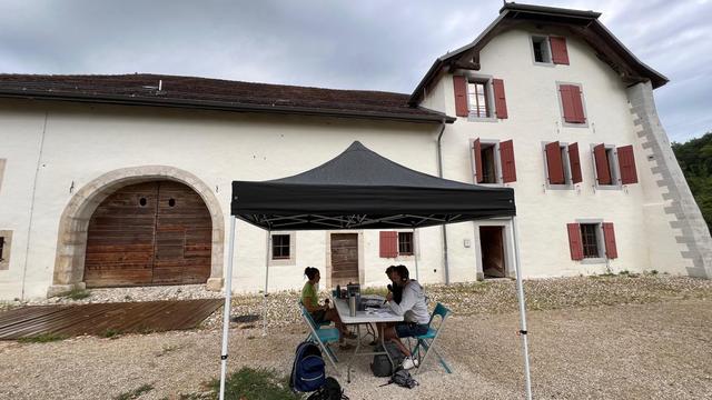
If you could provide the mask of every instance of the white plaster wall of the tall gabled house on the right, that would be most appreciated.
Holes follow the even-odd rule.
[[[537,66],[533,62],[530,36],[565,36],[570,66]],[[639,170],[645,168],[645,154],[639,143],[630,114],[625,86],[614,71],[601,62],[582,41],[556,30],[517,29],[493,39],[481,53],[482,70],[476,73],[504,80],[508,119],[496,122],[467,121],[458,118],[443,136],[444,177],[473,182],[469,141],[476,138],[514,140],[517,181],[506,184],[516,196],[523,274],[528,278],[601,273],[605,263],[586,264],[571,260],[566,223],[576,219],[603,219],[615,227],[619,258],[611,260],[613,271],[650,270],[649,247],[644,220],[663,223],[660,212],[643,212],[643,184],[622,190],[594,190],[594,167],[591,143],[605,142],[617,147],[633,144]],[[589,124],[585,128],[562,127],[556,82],[575,82],[583,87]],[[432,88],[427,104],[444,104],[438,109],[455,114],[452,76]],[[545,190],[545,163],[542,141],[577,142],[583,182],[577,190]],[[481,257],[475,224],[448,227],[452,274],[468,268],[468,260]],[[453,233],[451,233],[451,231]],[[467,252],[462,237],[473,238],[476,247]],[[673,240],[668,232],[661,240]],[[659,271],[680,272],[680,264],[655,263]],[[465,274],[466,276],[466,274]],[[457,280],[457,279],[455,279]]]

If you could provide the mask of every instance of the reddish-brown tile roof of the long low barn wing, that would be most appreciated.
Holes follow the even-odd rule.
[[[160,90],[159,90],[160,81]],[[415,122],[454,121],[408,104],[408,94],[239,82],[148,73],[0,74],[0,97],[167,106],[248,112],[327,114]]]

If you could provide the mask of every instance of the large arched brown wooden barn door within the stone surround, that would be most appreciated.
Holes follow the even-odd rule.
[[[212,222],[182,183],[132,184],[109,196],[89,221],[87,287],[205,283]]]

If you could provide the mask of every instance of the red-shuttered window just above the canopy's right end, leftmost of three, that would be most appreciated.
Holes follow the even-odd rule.
[[[516,181],[512,140],[476,139],[472,143],[475,183],[508,183]]]

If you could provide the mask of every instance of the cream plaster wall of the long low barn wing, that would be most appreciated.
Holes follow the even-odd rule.
[[[27,252],[32,183],[46,111],[44,147]],[[215,189],[226,229],[233,180],[296,174],[336,157],[354,140],[404,166],[437,173],[437,124],[20,100],[0,103],[0,158],[7,159],[0,192],[0,229],[13,230],[10,268],[0,271],[0,299],[20,297],[26,254],[24,296],[46,296],[52,280],[59,218],[72,196],[72,182],[76,192],[116,169],[162,164],[196,174]],[[226,240],[227,237],[226,233]],[[235,291],[261,290],[266,233],[238,221],[236,237]],[[366,238],[365,250],[377,258],[377,231],[367,232]],[[437,246],[436,239],[436,234],[428,239],[434,243],[428,246]],[[324,232],[298,232],[296,240],[295,264],[270,268],[270,291],[299,289],[306,266],[325,267]],[[225,249],[227,258],[227,246]],[[368,253],[364,261],[365,282],[380,280],[390,263]],[[372,271],[377,271],[377,277],[372,278]]]

